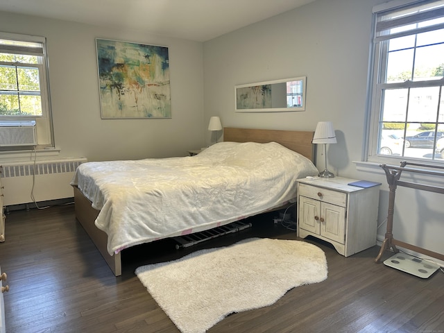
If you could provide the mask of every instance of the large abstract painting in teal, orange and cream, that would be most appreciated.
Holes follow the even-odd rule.
[[[165,46],[96,39],[102,119],[171,118]]]

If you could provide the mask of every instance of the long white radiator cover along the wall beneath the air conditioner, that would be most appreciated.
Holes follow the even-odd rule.
[[[87,162],[85,157],[70,157],[38,161],[35,165],[32,161],[3,163],[1,165],[3,205],[72,198],[74,193],[69,183],[76,168],[85,162]]]

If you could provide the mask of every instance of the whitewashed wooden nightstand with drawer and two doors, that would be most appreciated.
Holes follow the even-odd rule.
[[[298,237],[327,241],[348,257],[376,245],[379,185],[343,177],[298,179]]]

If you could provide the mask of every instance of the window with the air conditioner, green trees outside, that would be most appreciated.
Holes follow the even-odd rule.
[[[32,121],[40,148],[53,146],[46,71],[44,37],[0,33],[0,126]]]

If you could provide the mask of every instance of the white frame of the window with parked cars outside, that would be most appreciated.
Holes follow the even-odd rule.
[[[392,33],[391,35],[377,35],[377,31],[382,31],[383,28],[378,26],[377,17],[382,16],[386,12],[391,12],[393,10],[402,10],[404,8],[415,8],[429,3],[436,3],[438,0],[410,0],[410,1],[398,1],[393,0],[388,3],[382,3],[373,8],[373,26],[372,26],[372,41],[370,48],[370,65],[368,67],[368,98],[367,98],[367,126],[366,133],[364,137],[364,153],[363,160],[368,162],[393,162],[393,161],[420,161],[429,162],[431,164],[443,164],[444,160],[436,160],[436,156],[433,159],[419,158],[419,157],[409,157],[400,155],[382,155],[379,153],[379,139],[382,137],[382,129],[380,128],[382,124],[382,117],[384,115],[384,89],[407,89],[416,87],[438,87],[441,89],[438,95],[438,104],[441,103],[444,95],[444,77],[439,80],[419,80],[411,81],[407,80],[400,83],[385,83],[385,76],[387,71],[387,60],[388,60],[388,40],[393,40],[397,37],[404,37],[407,35],[418,35],[419,33],[424,33],[427,31],[435,31],[444,28],[444,23],[436,24],[435,26],[425,26],[422,28],[415,28],[409,31],[401,31],[398,33]],[[444,8],[439,8],[439,17],[444,17]],[[432,14],[434,15],[434,14]],[[394,19],[393,19],[394,20]],[[427,17],[425,19],[427,21]],[[393,26],[395,26],[393,24]],[[392,26],[392,28],[393,28]],[[386,29],[391,28],[391,22],[388,22]],[[414,46],[415,49],[418,46]],[[380,83],[379,83],[380,82]],[[441,97],[441,99],[439,99]],[[408,101],[407,103],[411,103]],[[439,106],[437,108],[437,116],[441,114]],[[416,121],[427,122],[427,121]],[[407,118],[402,121],[402,123],[415,123],[415,121],[407,121]],[[436,120],[436,123],[442,123]],[[406,134],[407,128],[404,127],[404,136]],[[438,128],[435,128],[438,130]],[[437,140],[436,140],[437,141]],[[432,152],[435,151],[436,141],[434,142],[434,147]]]

